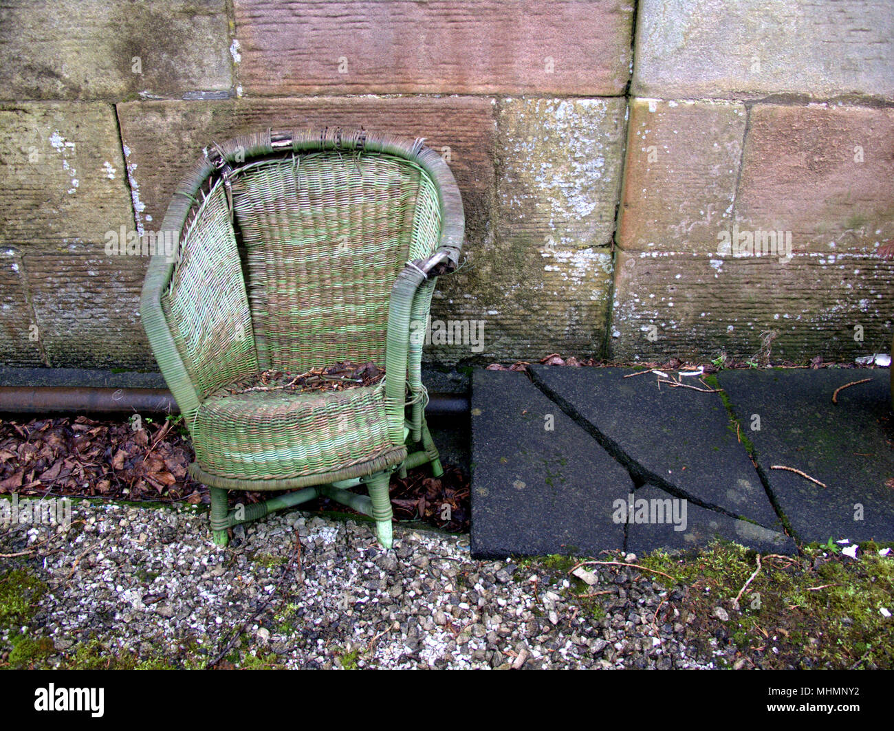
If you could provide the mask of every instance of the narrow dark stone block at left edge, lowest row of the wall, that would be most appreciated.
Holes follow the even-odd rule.
[[[37,323],[28,303],[21,256],[0,249],[0,363],[4,366],[43,366]]]

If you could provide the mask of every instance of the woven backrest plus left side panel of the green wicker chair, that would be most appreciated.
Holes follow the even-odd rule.
[[[305,134],[231,140],[207,153],[220,174],[199,165],[184,184],[204,197],[182,216],[162,307],[200,397],[267,368],[382,365],[392,283],[441,240],[443,200],[404,140]]]

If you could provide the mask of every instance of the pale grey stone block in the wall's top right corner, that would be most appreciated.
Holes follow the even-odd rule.
[[[894,98],[887,0],[643,0],[637,19],[637,96]]]

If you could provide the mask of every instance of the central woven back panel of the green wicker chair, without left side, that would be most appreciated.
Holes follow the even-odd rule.
[[[384,363],[392,283],[434,253],[434,185],[406,158],[322,150],[247,164],[232,181],[262,366]]]

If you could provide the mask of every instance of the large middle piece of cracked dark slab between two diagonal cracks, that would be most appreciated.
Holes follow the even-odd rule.
[[[748,454],[730,431],[716,393],[659,389],[655,376],[625,368],[531,366],[534,383],[640,483],[694,505],[779,529],[778,518]],[[613,499],[627,499],[627,494]]]

